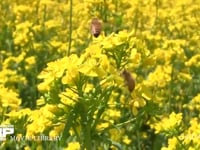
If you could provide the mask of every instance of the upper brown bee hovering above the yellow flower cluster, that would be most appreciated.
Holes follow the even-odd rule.
[[[91,33],[94,37],[98,37],[101,33],[101,22],[97,18],[93,18],[91,21]]]

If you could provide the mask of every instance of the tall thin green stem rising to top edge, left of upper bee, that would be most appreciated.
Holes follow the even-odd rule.
[[[72,0],[69,1],[69,46],[68,46],[68,52],[67,55],[70,55],[70,49],[71,49],[71,42],[72,42]]]

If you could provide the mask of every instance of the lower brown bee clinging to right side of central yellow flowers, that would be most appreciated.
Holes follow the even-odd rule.
[[[123,70],[121,75],[124,78],[124,81],[128,87],[128,90],[132,92],[135,89],[135,80],[132,77],[131,73],[128,72],[127,70]]]

